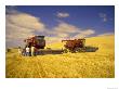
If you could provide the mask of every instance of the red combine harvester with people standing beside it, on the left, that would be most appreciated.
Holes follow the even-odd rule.
[[[32,46],[37,49],[37,54],[61,54],[63,50],[44,49],[45,39],[44,36],[35,36],[24,40],[26,47],[31,48]]]

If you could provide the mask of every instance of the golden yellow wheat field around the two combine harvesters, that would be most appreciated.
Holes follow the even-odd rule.
[[[115,36],[87,38],[85,46],[98,47],[96,52],[21,56],[17,49],[6,52],[6,78],[114,78]],[[63,43],[49,44],[61,49]]]

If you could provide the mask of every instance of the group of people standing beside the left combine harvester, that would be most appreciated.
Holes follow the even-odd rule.
[[[37,48],[35,48],[34,46],[30,48],[27,46],[25,47],[25,49],[18,47],[18,53],[24,56],[35,56],[37,55],[38,51]]]

